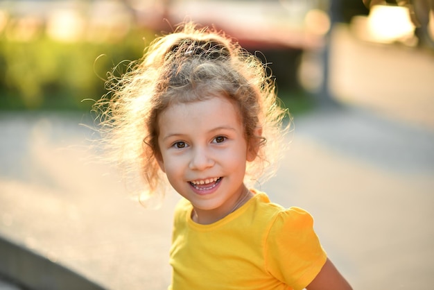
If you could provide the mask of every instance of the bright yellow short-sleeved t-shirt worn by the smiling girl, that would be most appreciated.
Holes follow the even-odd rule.
[[[318,275],[327,255],[313,231],[312,216],[253,192],[250,201],[210,225],[192,221],[191,203],[180,201],[168,289],[304,289]]]

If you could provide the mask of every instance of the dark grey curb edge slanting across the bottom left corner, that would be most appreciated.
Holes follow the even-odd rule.
[[[0,273],[24,289],[104,290],[68,268],[0,237]]]

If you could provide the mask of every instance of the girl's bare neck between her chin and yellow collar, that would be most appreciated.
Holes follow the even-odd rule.
[[[223,212],[215,210],[197,210],[193,207],[193,211],[191,212],[191,219],[195,223],[200,223],[202,225],[209,225],[211,223],[215,223],[216,221],[220,221],[220,219],[225,218],[225,216],[232,214],[238,210],[238,208],[242,207],[245,203],[247,203],[250,198],[252,198],[253,194],[247,187],[244,187],[242,194],[238,196],[236,199],[234,206],[229,210],[224,210]]]

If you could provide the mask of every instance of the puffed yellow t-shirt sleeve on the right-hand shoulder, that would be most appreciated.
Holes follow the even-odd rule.
[[[265,247],[266,268],[293,289],[304,289],[327,260],[313,218],[298,207],[282,210],[270,227]]]

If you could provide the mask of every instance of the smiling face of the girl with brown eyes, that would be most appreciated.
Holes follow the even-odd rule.
[[[159,166],[201,221],[228,214],[245,192],[247,161],[254,160],[238,108],[224,97],[177,103],[158,119]]]

